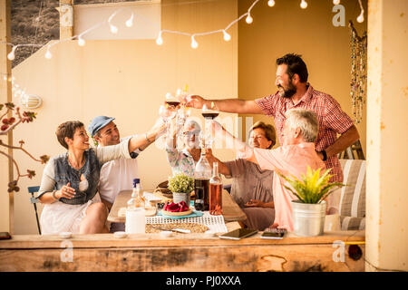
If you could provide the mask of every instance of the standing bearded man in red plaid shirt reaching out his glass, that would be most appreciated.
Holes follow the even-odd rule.
[[[307,82],[307,67],[300,55],[288,53],[277,59],[278,91],[265,98],[243,101],[237,99],[205,100],[200,96],[189,97],[187,106],[201,109],[214,102],[219,111],[241,114],[265,114],[275,119],[280,144],[283,143],[285,112],[292,108],[303,108],[316,112],[319,133],[316,139],[316,152],[325,161],[326,169],[333,169],[335,181],[343,181],[343,172],[337,159],[342,152],[358,140],[359,134],[351,118],[340,104],[325,92],[316,91]],[[340,134],[337,138],[337,134]]]

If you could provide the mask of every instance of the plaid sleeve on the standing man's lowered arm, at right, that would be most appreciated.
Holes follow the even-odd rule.
[[[342,110],[334,98],[328,97],[325,102],[325,126],[333,129],[338,134],[343,134],[353,125],[353,120]]]

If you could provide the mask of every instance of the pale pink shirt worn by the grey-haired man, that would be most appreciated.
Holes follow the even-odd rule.
[[[278,228],[293,231],[291,200],[297,199],[284,185],[289,186],[285,179],[276,171],[297,179],[306,174],[307,166],[311,169],[325,169],[325,163],[318,157],[314,143],[281,146],[275,150],[254,149],[255,157],[261,169],[274,170],[273,195],[275,201],[275,222]],[[290,177],[289,177],[290,178]]]

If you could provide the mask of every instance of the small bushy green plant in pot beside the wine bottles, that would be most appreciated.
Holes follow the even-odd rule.
[[[194,179],[183,173],[175,174],[169,178],[168,188],[173,193],[173,202],[184,200],[189,205],[191,191],[194,190]]]

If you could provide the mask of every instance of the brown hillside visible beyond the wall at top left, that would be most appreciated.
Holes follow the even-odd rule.
[[[131,0],[128,0],[131,1]],[[73,4],[97,4],[128,2],[123,0],[74,0]],[[135,0],[132,0],[135,1]],[[48,43],[60,38],[59,13],[55,9],[59,0],[12,0],[11,34],[13,44]],[[19,47],[15,53],[13,67],[23,62],[40,47]]]

